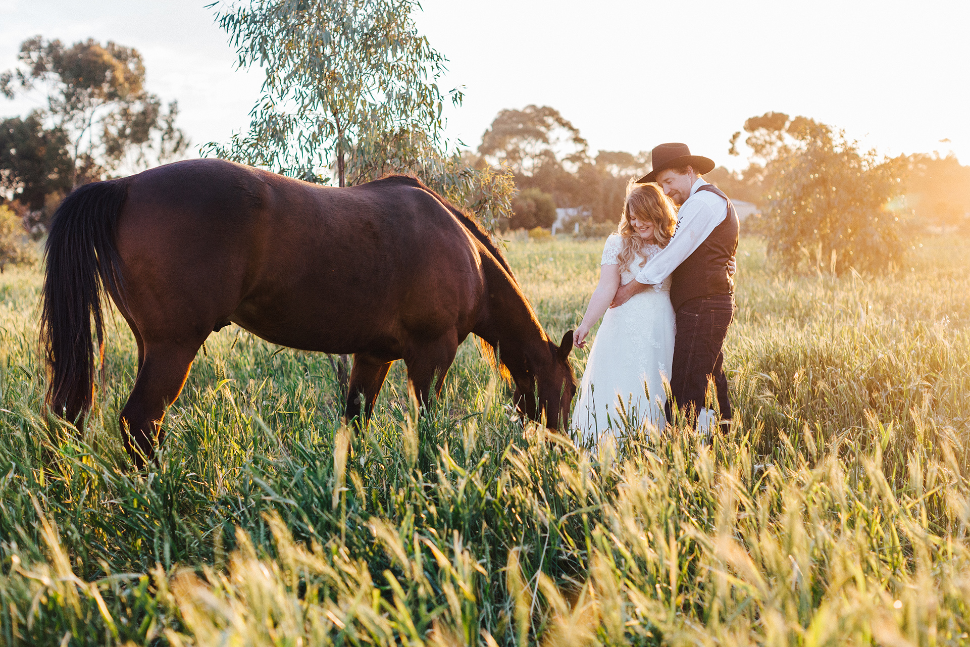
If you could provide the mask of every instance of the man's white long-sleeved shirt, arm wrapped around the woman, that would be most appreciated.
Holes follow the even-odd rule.
[[[670,243],[647,261],[637,273],[636,280],[647,285],[659,285],[673,274],[677,266],[687,260],[695,249],[707,240],[714,228],[727,218],[727,202],[716,193],[697,189],[708,184],[697,178],[691,195],[677,211],[677,232]]]

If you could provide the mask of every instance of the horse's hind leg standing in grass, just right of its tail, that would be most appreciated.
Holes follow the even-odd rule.
[[[145,467],[162,441],[165,409],[176,401],[202,343],[147,343],[135,388],[121,410],[121,435],[135,467]]]

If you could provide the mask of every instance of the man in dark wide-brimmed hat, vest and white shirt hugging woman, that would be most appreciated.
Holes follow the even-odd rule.
[[[737,214],[727,196],[700,177],[714,169],[714,162],[692,155],[686,144],[655,147],[653,166],[636,181],[657,182],[680,205],[677,229],[636,280],[617,290],[610,307],[622,306],[648,285],[673,275],[670,303],[676,312],[677,336],[670,392],[678,407],[696,415],[698,428],[710,431],[717,420],[714,411],[704,407],[709,377],[717,387],[721,424],[731,419],[722,346],[734,317],[734,283],[727,261],[737,250]],[[667,407],[667,419],[672,420],[670,403]]]

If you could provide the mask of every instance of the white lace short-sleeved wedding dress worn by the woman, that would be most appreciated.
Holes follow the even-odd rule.
[[[622,245],[618,234],[610,235],[600,265],[619,265]],[[643,263],[660,250],[653,244],[643,247],[620,283],[633,280]],[[670,277],[633,295],[623,306],[606,310],[572,412],[578,437],[584,442],[598,441],[604,433],[619,438],[645,420],[663,427],[663,381],[670,379],[675,333]]]

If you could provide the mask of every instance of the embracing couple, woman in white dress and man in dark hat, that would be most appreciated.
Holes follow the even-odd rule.
[[[707,433],[730,422],[722,346],[734,316],[738,219],[727,196],[701,178],[713,169],[684,144],[662,144],[653,171],[628,190],[574,336],[584,347],[603,317],[572,415],[586,442],[619,437],[630,421],[663,428],[674,407]],[[705,406],[710,379],[720,420]]]

